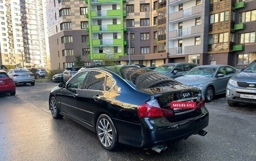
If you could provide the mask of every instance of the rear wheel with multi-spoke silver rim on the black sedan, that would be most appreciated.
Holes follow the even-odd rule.
[[[107,114],[101,114],[97,120],[97,137],[100,145],[113,151],[117,147],[117,131],[112,119]]]

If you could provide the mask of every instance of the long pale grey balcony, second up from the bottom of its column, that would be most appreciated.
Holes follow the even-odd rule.
[[[202,31],[202,25],[192,26],[185,29],[173,30],[168,33],[169,40],[177,40],[182,38],[192,38],[199,36]]]

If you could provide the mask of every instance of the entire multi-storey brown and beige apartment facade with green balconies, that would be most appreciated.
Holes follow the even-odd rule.
[[[53,68],[111,59],[243,66],[255,59],[254,0],[48,1]]]

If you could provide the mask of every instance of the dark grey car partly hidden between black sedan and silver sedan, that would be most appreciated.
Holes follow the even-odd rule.
[[[175,79],[196,66],[198,66],[196,63],[165,63],[155,68],[154,71],[161,72]]]

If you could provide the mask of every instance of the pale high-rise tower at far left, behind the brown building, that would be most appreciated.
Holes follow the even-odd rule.
[[[42,1],[0,1],[0,63],[26,68],[47,68]]]

